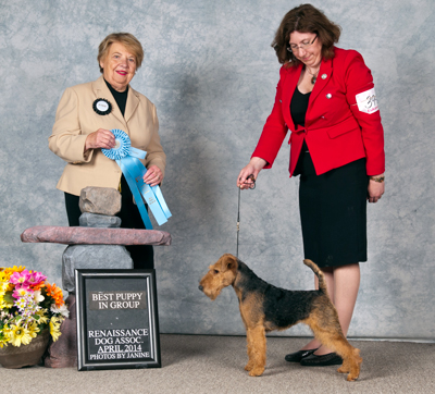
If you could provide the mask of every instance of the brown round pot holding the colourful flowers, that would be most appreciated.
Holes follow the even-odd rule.
[[[0,365],[3,368],[22,368],[39,362],[50,341],[50,331],[44,330],[28,345],[3,346],[0,348]]]

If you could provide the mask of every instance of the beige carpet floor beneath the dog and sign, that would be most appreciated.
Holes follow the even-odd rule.
[[[357,382],[336,367],[301,367],[284,355],[303,338],[269,337],[264,374],[251,378],[243,336],[161,335],[162,368],[82,371],[0,368],[0,393],[435,393],[435,344],[350,341],[361,349]]]

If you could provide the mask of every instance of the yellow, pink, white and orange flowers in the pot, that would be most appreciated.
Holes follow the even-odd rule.
[[[47,327],[53,341],[69,317],[62,291],[41,272],[0,268],[0,347],[28,345]]]

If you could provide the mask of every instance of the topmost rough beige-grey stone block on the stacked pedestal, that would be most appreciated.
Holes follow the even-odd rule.
[[[82,212],[113,217],[121,211],[121,193],[112,187],[88,186],[82,189],[78,207]]]

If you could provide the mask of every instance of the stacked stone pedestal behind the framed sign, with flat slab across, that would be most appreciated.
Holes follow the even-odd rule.
[[[113,188],[86,187],[82,190],[80,226],[35,226],[21,235],[25,243],[70,245],[62,256],[62,284],[70,293],[65,303],[70,318],[61,324],[62,335],[50,344],[46,367],[77,366],[77,320],[75,306],[76,269],[133,269],[124,245],[171,245],[171,234],[163,231],[120,229],[121,194]]]

